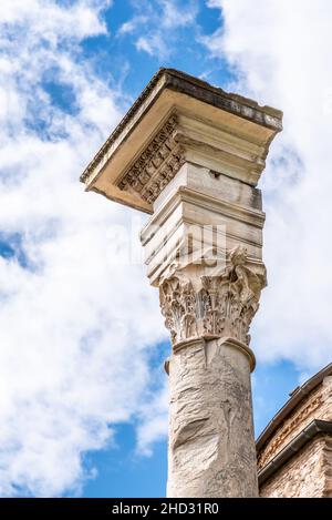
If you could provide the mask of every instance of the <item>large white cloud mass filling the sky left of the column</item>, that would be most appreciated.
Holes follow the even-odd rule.
[[[83,453],[147,406],[151,345],[166,334],[143,267],[110,262],[112,226],[132,213],[79,183],[121,115],[80,59],[82,39],[106,31],[108,3],[1,2],[0,233],[21,237],[28,263],[0,256],[4,497],[80,492]],[[45,89],[50,75],[74,114]]]

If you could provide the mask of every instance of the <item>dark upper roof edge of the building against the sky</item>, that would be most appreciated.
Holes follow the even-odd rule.
[[[268,424],[266,429],[261,432],[256,441],[257,451],[259,452],[263,446],[269,441],[274,431],[281,426],[282,421],[297,408],[300,402],[314,390],[325,377],[332,375],[332,363],[308,379],[302,386],[295,388],[291,392],[290,399],[286,405],[276,414],[273,419]]]

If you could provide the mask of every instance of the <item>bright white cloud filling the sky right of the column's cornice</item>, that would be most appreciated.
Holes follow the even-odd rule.
[[[269,288],[256,318],[261,359],[314,369],[332,357],[330,326],[332,4],[328,0],[210,0],[225,26],[206,40],[237,91],[284,111],[263,174]]]

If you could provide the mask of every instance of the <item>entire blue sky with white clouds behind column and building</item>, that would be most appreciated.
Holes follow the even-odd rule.
[[[84,193],[80,173],[160,65],[284,111],[261,182],[259,431],[332,360],[332,4],[0,6],[0,496],[160,496],[157,294],[143,266],[112,261],[135,212]]]

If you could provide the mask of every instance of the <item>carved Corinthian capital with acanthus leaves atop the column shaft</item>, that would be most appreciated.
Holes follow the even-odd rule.
[[[247,249],[238,246],[222,273],[206,273],[206,266],[178,265],[159,285],[165,325],[176,348],[199,337],[231,337],[249,345],[249,327],[259,307],[266,275],[248,266]],[[215,271],[215,269],[214,269]]]

